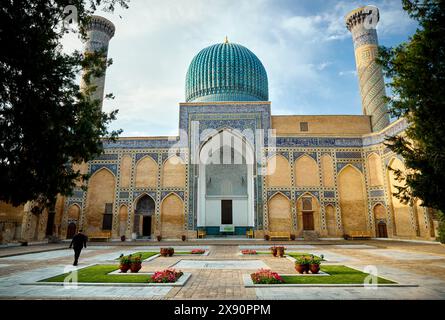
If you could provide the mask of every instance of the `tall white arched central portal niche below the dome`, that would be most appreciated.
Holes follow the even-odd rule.
[[[224,129],[199,152],[198,227],[208,235],[245,235],[254,226],[253,147],[237,131]]]

